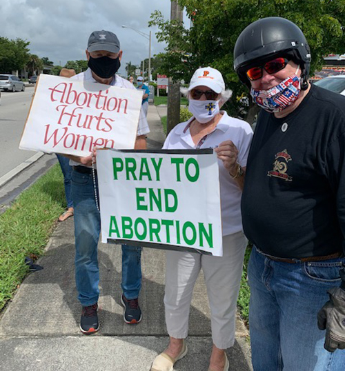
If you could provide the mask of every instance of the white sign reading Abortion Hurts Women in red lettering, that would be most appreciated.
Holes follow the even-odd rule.
[[[41,74],[19,148],[86,156],[134,148],[142,92]]]

